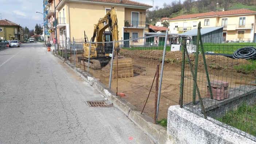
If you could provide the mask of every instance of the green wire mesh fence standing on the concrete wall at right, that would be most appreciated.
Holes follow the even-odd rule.
[[[185,47],[180,106],[256,141],[256,48],[199,45],[188,54]]]

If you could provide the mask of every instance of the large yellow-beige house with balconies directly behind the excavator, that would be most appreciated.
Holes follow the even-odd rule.
[[[54,5],[56,7],[54,11]],[[58,42],[67,39],[93,36],[94,24],[113,6],[116,9],[119,40],[143,37],[146,27],[146,10],[151,5],[130,0],[44,0],[46,22],[50,40],[55,38],[55,13]],[[108,29],[106,29],[108,31]]]

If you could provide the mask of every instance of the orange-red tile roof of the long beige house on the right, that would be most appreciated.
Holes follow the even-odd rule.
[[[218,12],[212,11],[212,12],[205,12],[205,13],[195,13],[191,15],[180,15],[180,16],[173,17],[169,20],[190,19],[190,18],[206,17],[206,16],[241,15],[241,14],[256,14],[256,12],[243,8],[243,9],[236,9],[236,10],[230,10],[230,11],[218,11]]]

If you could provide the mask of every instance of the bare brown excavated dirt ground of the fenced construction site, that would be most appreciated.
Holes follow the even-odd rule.
[[[138,110],[142,110],[148,98],[143,113],[150,117],[154,117],[154,101],[155,101],[155,82],[154,75],[156,73],[156,65],[160,65],[159,73],[162,67],[162,50],[122,50],[124,57],[132,58],[133,77],[112,78],[111,89],[113,92],[123,93],[120,95]],[[159,102],[159,118],[167,118],[168,108],[171,105],[179,104],[180,87],[181,87],[181,69],[182,69],[182,52],[167,51],[164,61],[163,79],[161,85],[160,102]],[[194,67],[195,54],[190,54],[190,61]],[[255,78],[256,70],[247,73],[243,70],[237,70],[235,67],[242,65],[250,65],[250,62],[244,59],[232,59],[222,55],[205,55],[207,70],[210,81],[218,80],[229,82],[229,87],[238,86],[236,82],[251,82]],[[78,65],[84,69],[82,65]],[[100,79],[102,83],[108,86],[109,79],[108,65],[99,70],[89,70],[94,77]],[[252,77],[254,77],[252,79]],[[160,79],[160,77],[159,77]],[[198,59],[198,87],[202,98],[206,97],[206,72],[203,65],[202,55],[199,54]],[[150,91],[151,89],[151,91]],[[184,97],[183,103],[187,104],[192,101],[193,78],[189,68],[189,62],[185,63],[184,76]],[[149,94],[150,93],[150,94]],[[198,97],[197,97],[198,100]]]

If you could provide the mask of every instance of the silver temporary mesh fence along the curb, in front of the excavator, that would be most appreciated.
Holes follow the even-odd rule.
[[[58,54],[82,70],[89,72],[93,77],[100,79],[105,86],[116,92],[117,96],[123,97],[139,110],[143,109],[147,97],[149,97],[143,113],[154,117],[156,90],[151,88],[151,85],[157,65],[160,65],[161,70],[164,58],[164,46],[146,42],[146,39],[154,40],[155,36],[166,37],[167,34],[117,42],[85,42],[83,38],[73,39],[71,42],[58,41]],[[115,44],[119,45],[119,49],[115,50],[113,48]],[[88,49],[84,50],[83,45]],[[95,45],[97,45],[97,49],[93,48]],[[86,55],[96,52],[96,57],[86,57]],[[111,55],[114,56],[112,57]],[[159,77],[162,77],[161,73]],[[159,82],[161,84],[161,79],[159,79]],[[154,87],[155,84],[156,82],[154,82]],[[167,85],[167,82],[163,83],[163,85]],[[166,92],[160,93],[159,90],[158,95],[158,117],[166,118],[168,106],[177,105],[178,100],[171,100],[173,104],[166,105],[164,99],[168,98],[168,94]],[[164,99],[160,99],[160,97],[164,97]],[[164,105],[161,104],[161,101],[163,101]],[[162,105],[164,108],[162,108]]]

